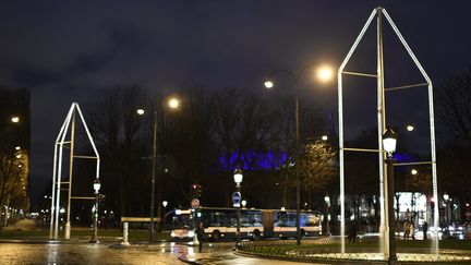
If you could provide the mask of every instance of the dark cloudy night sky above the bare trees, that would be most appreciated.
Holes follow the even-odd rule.
[[[470,1],[3,1],[0,84],[32,92],[32,195],[40,195],[51,179],[55,138],[72,101],[86,111],[101,89],[116,85],[262,89],[262,80],[276,69],[298,71],[312,62],[337,69],[378,5],[434,84],[470,65]],[[387,31],[386,83],[422,83]],[[355,60],[372,73],[373,33]],[[310,104],[337,116],[335,83],[305,86]],[[350,135],[375,125],[375,101],[363,104],[375,98],[374,84],[369,89],[346,92]],[[426,112],[425,96],[391,99],[400,106],[391,119]]]

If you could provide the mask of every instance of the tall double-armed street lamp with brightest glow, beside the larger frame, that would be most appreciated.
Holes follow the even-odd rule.
[[[266,88],[273,88],[275,86],[275,83],[273,81],[273,77],[277,74],[286,74],[290,77],[291,82],[293,83],[293,91],[294,91],[294,115],[295,115],[295,142],[294,142],[294,161],[298,161],[299,157],[299,143],[300,143],[300,115],[299,115],[299,98],[298,98],[298,87],[299,87],[299,80],[303,75],[303,73],[311,69],[312,67],[317,65],[317,63],[310,63],[302,68],[297,74],[292,73],[288,70],[275,70],[269,74],[269,79],[265,80],[264,85]],[[321,81],[327,82],[333,77],[333,71],[328,67],[321,67],[317,69],[317,79]],[[300,181],[300,173],[299,173],[299,167],[295,165],[295,192],[297,192],[297,244],[301,244],[301,230],[300,230],[300,220],[301,220],[301,181]]]

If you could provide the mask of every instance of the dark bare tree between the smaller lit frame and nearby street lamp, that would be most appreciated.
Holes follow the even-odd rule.
[[[148,188],[146,180],[149,177],[145,174],[148,168],[142,159],[150,154],[143,141],[143,129],[148,119],[140,119],[136,115],[136,109],[146,105],[146,93],[141,87],[111,87],[87,115],[101,156],[106,204],[119,215],[147,212],[140,203],[143,193],[138,191]]]

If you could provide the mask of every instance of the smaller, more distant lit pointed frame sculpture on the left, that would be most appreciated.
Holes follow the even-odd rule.
[[[86,135],[92,145],[92,148],[95,153],[95,156],[80,156],[74,153],[74,144],[75,144],[75,118],[76,115],[81,118],[82,124],[85,128]],[[70,140],[65,140],[68,135],[69,128],[71,128]],[[70,160],[69,160],[69,180],[61,181],[62,176],[62,157],[63,157],[63,148],[70,149]],[[80,200],[95,200],[95,197],[72,197],[72,172],[73,172],[73,161],[74,158],[85,158],[85,159],[96,159],[96,172],[95,179],[99,179],[99,165],[100,157],[98,150],[95,146],[92,134],[89,133],[88,127],[85,122],[85,119],[82,115],[82,110],[78,107],[78,104],[73,103],[71,108],[69,109],[68,116],[65,117],[65,121],[62,124],[59,135],[56,140],[55,144],[55,155],[53,155],[53,168],[52,168],[52,198],[51,198],[51,210],[50,210],[50,230],[49,238],[57,239],[59,232],[59,203],[60,203],[60,192],[61,190],[68,191],[68,209],[67,209],[67,224],[65,224],[65,232],[64,238],[70,239],[70,214],[71,214],[71,200],[80,198]],[[67,185],[67,188],[61,188],[61,185]]]

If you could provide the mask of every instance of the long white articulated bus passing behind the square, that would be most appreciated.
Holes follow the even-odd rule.
[[[321,213],[301,210],[301,237],[321,236]],[[194,227],[200,221],[205,229],[205,239],[220,241],[237,237],[237,208],[200,207],[196,209],[176,209],[169,215],[173,239],[191,239]],[[295,238],[297,212],[286,209],[241,209],[241,239],[261,240],[266,238]]]

